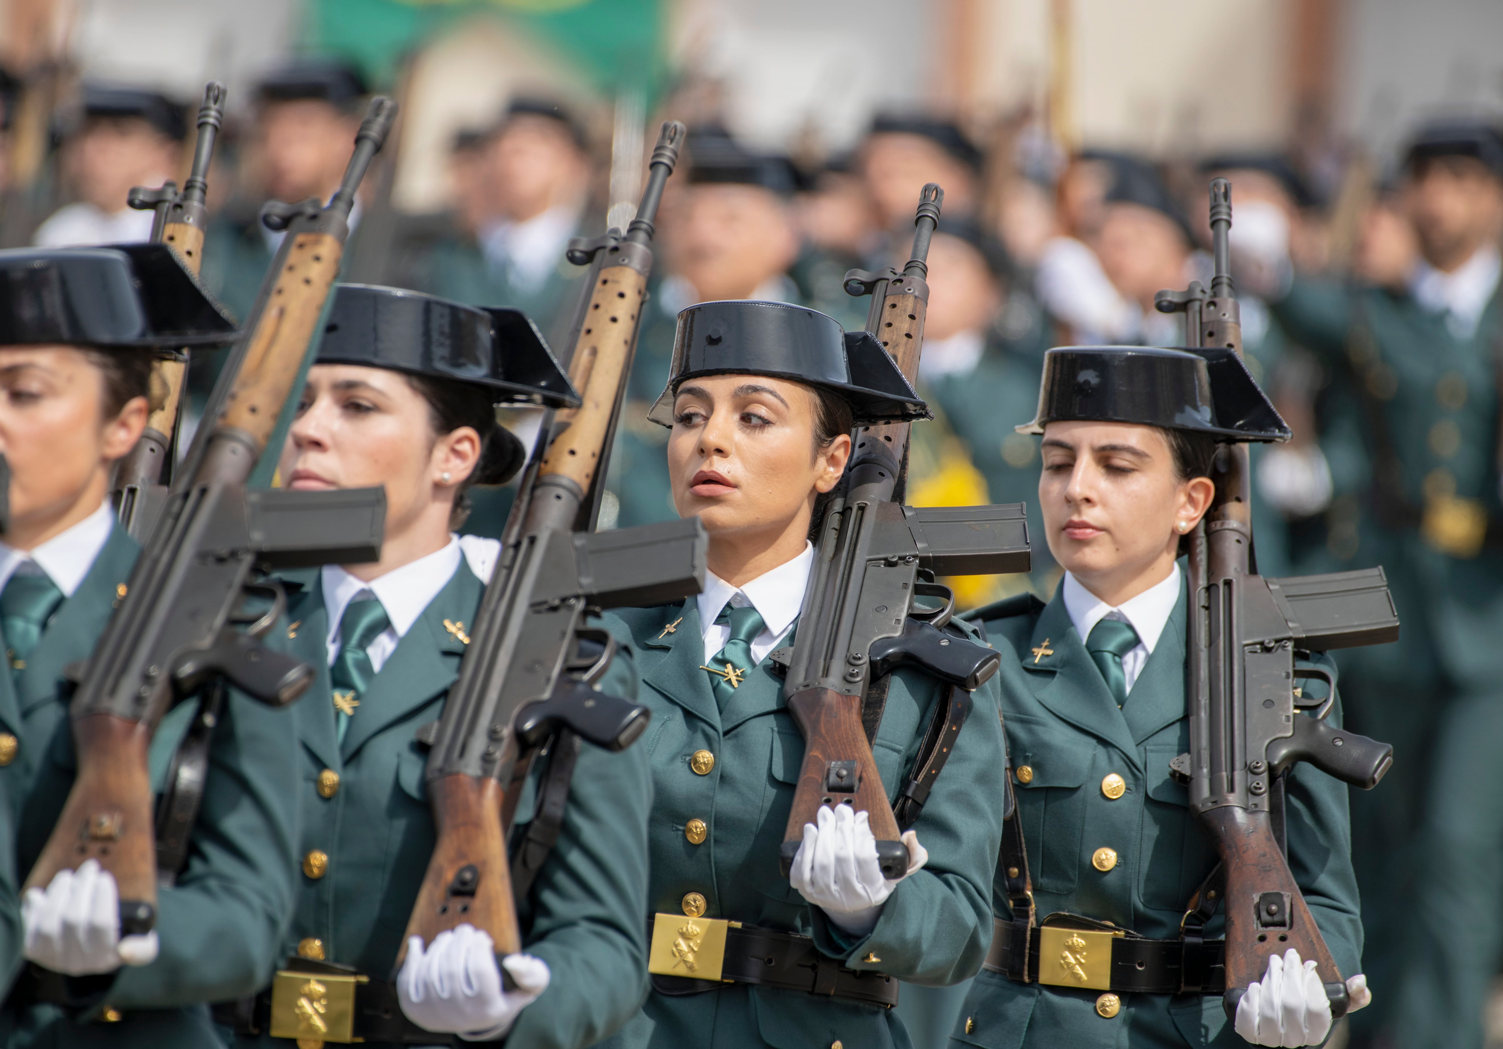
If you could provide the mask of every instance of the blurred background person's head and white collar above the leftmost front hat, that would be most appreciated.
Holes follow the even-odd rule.
[[[62,152],[63,180],[78,197],[42,222],[33,243],[65,248],[144,242],[152,212],[125,203],[135,186],[179,179],[183,108],[156,92],[84,84]]]

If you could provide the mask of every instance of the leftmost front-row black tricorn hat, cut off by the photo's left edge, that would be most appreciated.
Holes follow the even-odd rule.
[[[167,245],[0,251],[0,346],[177,349],[234,337]]]

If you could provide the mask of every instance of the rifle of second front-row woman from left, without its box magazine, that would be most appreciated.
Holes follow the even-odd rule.
[[[507,792],[520,786],[517,772],[541,739],[522,738],[519,714],[561,705],[559,687],[571,673],[586,595],[576,580],[561,576],[567,571],[561,543],[571,544],[576,531],[592,526],[646,302],[652,222],[684,134],[678,122],[663,125],[642,204],[625,237],[612,230],[592,243],[570,245],[570,261],[591,265],[568,361],[580,404],[544,419],[458,681],[434,726],[427,786],[437,843],[394,971],[401,968],[412,936],[431,945],[434,936],[464,923],[488,933],[499,954],[522,950],[507,854],[507,815],[516,800]],[[613,645],[606,646],[594,676],[604,672],[613,651]],[[591,702],[601,708],[625,708],[619,736],[595,742],[628,745],[645,726],[646,711],[595,696]],[[583,730],[580,735],[589,738]]]

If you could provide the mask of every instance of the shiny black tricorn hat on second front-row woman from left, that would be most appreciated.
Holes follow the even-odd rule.
[[[340,284],[319,364],[359,364],[485,386],[497,404],[576,407],[579,394],[520,310]]]

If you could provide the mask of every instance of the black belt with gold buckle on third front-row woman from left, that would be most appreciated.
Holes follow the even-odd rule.
[[[654,915],[648,932],[648,972],[660,995],[697,995],[727,983],[753,983],[869,1005],[897,1004],[894,977],[848,969],[821,954],[810,936],[682,914]]]

